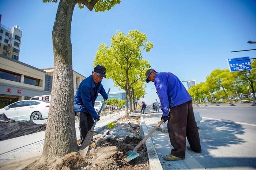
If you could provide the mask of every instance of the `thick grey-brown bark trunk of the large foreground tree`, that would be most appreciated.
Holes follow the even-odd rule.
[[[72,73],[71,20],[75,3],[60,0],[52,39],[54,72],[52,100],[45,132],[43,156],[46,159],[63,157],[77,150],[74,87]]]

